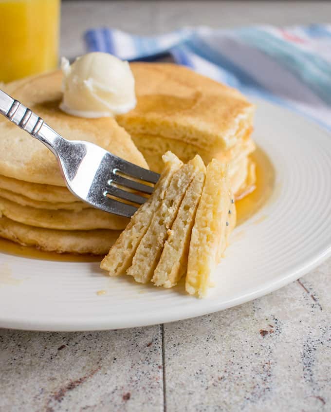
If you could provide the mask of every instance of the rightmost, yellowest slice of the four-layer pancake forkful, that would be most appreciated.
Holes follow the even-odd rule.
[[[214,159],[207,166],[192,229],[185,280],[185,289],[190,295],[202,298],[210,286],[211,274],[226,247],[229,229],[235,225],[232,202],[227,170]]]

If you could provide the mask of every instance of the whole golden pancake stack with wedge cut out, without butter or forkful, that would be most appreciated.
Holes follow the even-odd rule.
[[[91,141],[139,166],[163,168],[162,154],[184,162],[200,154],[228,164],[239,198],[254,187],[249,153],[254,107],[239,92],[172,64],[132,63],[137,106],[113,118],[61,112],[62,73],[9,83],[3,89],[71,140]],[[131,137],[132,140],[131,140]],[[146,159],[146,160],[145,160]],[[57,252],[105,254],[129,219],[93,209],[65,187],[54,155],[0,119],[0,236]]]

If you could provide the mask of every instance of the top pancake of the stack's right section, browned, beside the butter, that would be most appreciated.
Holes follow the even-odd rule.
[[[117,116],[130,135],[227,150],[252,131],[254,106],[237,90],[167,63],[131,63],[137,106]]]

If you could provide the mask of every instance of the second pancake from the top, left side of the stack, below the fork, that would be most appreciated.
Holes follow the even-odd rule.
[[[24,182],[0,175],[0,191],[1,189],[10,190],[37,202],[71,203],[78,200],[67,187]]]

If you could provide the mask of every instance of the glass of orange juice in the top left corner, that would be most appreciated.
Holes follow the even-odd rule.
[[[60,0],[0,0],[0,81],[53,70]]]

